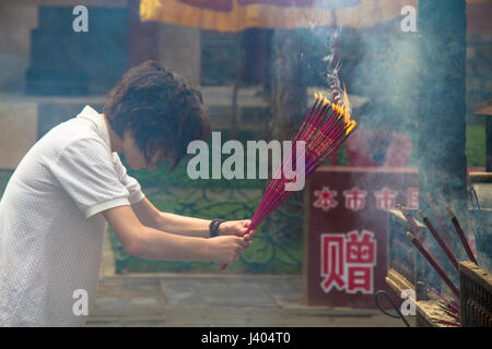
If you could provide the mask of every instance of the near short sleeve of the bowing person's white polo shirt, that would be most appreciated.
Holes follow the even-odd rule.
[[[130,205],[129,192],[118,180],[113,157],[101,140],[89,137],[70,143],[49,167],[87,218],[108,208]]]

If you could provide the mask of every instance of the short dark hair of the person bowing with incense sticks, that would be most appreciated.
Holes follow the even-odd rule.
[[[172,170],[186,156],[189,142],[210,133],[201,93],[155,61],[130,69],[109,92],[103,108],[122,139],[130,130],[148,163],[157,151]]]

